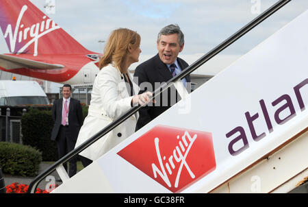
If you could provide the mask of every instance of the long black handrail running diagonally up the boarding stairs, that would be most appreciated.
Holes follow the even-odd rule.
[[[204,56],[196,60],[196,62],[185,68],[183,71],[181,71],[181,73],[179,73],[175,77],[172,77],[168,82],[162,84],[162,86],[160,86],[153,92],[152,99],[154,99],[164,90],[172,86],[175,82],[177,82],[177,80],[181,80],[186,75],[189,75],[190,73],[198,69],[198,67],[200,67],[202,64],[204,64],[205,62],[216,56],[218,53],[220,53],[220,51],[229,47],[229,45],[231,45],[233,42],[244,36],[244,34],[246,34],[247,32],[251,31],[251,29],[259,25],[259,23],[261,23],[269,16],[274,14],[274,12],[277,12],[280,8],[282,8],[285,4],[289,3],[290,1],[291,0],[281,0],[272,5],[272,7],[270,7],[268,10],[257,16],[255,19],[253,19],[253,21],[242,27],[242,29],[238,30],[238,32],[235,32],[235,34],[227,38],[227,40],[224,40],[224,42],[220,43],[220,45],[218,45],[217,47],[206,53]],[[77,156],[77,154],[79,154],[81,151],[83,151],[96,141],[98,141],[99,138],[105,136],[105,134],[107,134],[115,127],[126,121],[129,117],[131,117],[131,115],[135,114],[140,108],[142,108],[142,106],[135,106],[131,108],[131,110],[129,110],[126,114],[123,114],[122,116],[118,117],[115,121],[113,121],[105,128],[103,128],[103,130],[99,131],[97,134],[89,138],[86,142],[79,145],[79,147],[77,147],[73,151],[70,151],[68,154],[66,154],[66,156],[62,157],[60,160],[57,160],[57,162],[51,165],[49,169],[46,169],[44,172],[42,172],[40,175],[34,178],[34,180],[29,185],[27,193],[34,193],[39,182],[41,182],[43,178],[52,173],[58,166],[62,165],[64,162],[67,162],[68,160],[70,160],[70,158],[73,158],[73,156]]]

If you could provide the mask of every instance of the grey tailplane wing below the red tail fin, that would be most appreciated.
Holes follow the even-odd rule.
[[[8,56],[0,54],[0,67],[3,69],[39,69],[39,70],[50,70],[50,69],[63,69],[62,64],[49,64],[45,62],[38,62],[35,60],[29,60],[25,58],[18,58],[15,56]]]

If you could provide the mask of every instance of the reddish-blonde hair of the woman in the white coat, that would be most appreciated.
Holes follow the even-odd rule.
[[[140,35],[131,29],[120,28],[114,30],[107,40],[103,57],[99,60],[99,69],[113,63],[123,73],[121,65],[123,60],[125,60],[128,48],[136,49],[139,47],[140,39]]]

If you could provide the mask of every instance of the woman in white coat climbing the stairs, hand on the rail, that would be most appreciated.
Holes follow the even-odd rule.
[[[139,34],[124,28],[112,32],[99,62],[100,71],[94,80],[88,116],[80,129],[75,148],[131,107],[149,103],[152,93],[138,95],[138,85],[133,83],[128,71],[133,62],[138,62],[140,53]],[[84,166],[133,134],[137,119],[138,112],[82,151],[79,155]]]

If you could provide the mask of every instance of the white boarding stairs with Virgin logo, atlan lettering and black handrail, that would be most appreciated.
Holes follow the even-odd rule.
[[[72,178],[62,163],[107,134],[132,108],[31,182],[56,171],[52,193],[288,193],[308,178],[308,11],[211,80],[179,80],[288,1],[279,1],[200,60],[174,85],[181,101]],[[154,92],[154,97],[159,95]]]

